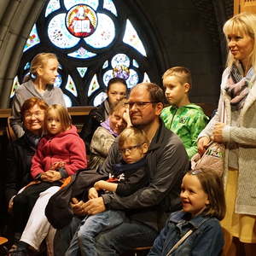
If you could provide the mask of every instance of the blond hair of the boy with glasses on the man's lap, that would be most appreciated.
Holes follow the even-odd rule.
[[[143,143],[148,144],[148,137],[143,130],[135,127],[128,127],[119,135],[119,148],[122,148],[125,142],[135,143],[136,145]]]

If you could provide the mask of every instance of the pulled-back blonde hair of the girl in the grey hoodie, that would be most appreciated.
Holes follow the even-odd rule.
[[[42,52],[38,55],[35,55],[30,64],[29,74],[23,79],[23,82],[27,82],[28,80],[35,80],[37,79],[37,70],[39,67],[44,67],[49,59],[55,59],[58,61],[57,56],[54,53],[46,53]]]

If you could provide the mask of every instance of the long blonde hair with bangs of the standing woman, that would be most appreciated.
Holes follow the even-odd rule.
[[[248,65],[253,67],[256,72],[256,15],[250,13],[241,13],[227,20],[224,24],[223,31],[227,42],[229,42],[228,35],[230,33],[238,33],[241,36],[247,35],[253,39],[253,50],[248,56]],[[236,61],[234,56],[229,51],[227,59],[227,67],[231,67],[232,63]],[[245,67],[246,69],[248,67]]]

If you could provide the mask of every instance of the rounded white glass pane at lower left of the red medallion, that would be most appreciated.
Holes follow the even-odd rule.
[[[79,43],[80,38],[74,37],[65,26],[65,14],[56,15],[49,21],[49,40],[60,48],[71,48]]]

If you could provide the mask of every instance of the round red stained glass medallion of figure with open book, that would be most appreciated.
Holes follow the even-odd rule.
[[[87,38],[96,30],[96,12],[86,4],[75,5],[67,12],[66,26],[73,36]]]

